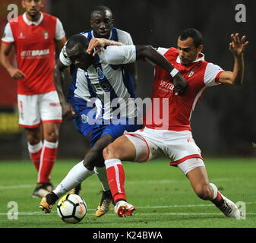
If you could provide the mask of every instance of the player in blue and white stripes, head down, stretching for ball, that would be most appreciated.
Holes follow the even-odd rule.
[[[100,124],[97,123],[92,128],[91,144],[93,147],[84,160],[77,163],[68,172],[68,175],[55,190],[41,200],[40,207],[46,213],[51,212],[52,205],[58,200],[58,197],[61,197],[92,175],[94,166],[103,167],[102,152],[108,144],[121,136],[124,131],[136,131],[141,128],[141,122],[137,119],[137,107],[134,99],[132,99],[132,89],[125,85],[122,65],[135,62],[138,59],[148,58],[150,62],[156,63],[156,65],[160,65],[160,67],[170,72],[173,77],[175,93],[182,93],[187,85],[179,71],[172,68],[166,58],[160,55],[152,46],[123,46],[122,43],[111,40],[106,42],[107,45],[115,43],[119,46],[104,46],[104,40],[98,39],[98,41],[100,40],[106,49],[102,47],[101,52],[90,55],[87,53],[89,46],[87,37],[83,34],[71,36],[60,55],[59,68],[74,64],[77,68],[84,70],[86,87],[88,87],[91,95],[90,99],[100,99],[103,107]],[[82,84],[80,88],[83,88]],[[66,103],[63,94],[60,96],[60,100],[62,104]],[[119,100],[122,100],[122,102],[119,103]],[[114,106],[114,102],[119,103],[119,107]],[[95,114],[96,112],[93,114],[94,116],[90,116],[88,113],[87,120],[91,121],[94,118],[94,122],[97,122]]]

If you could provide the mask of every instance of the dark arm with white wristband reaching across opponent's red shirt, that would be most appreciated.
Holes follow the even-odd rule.
[[[182,93],[184,93],[188,85],[187,80],[185,80],[182,74],[177,69],[173,68],[168,60],[152,46],[136,46],[136,58],[147,58],[161,68],[166,69],[166,71],[169,71],[173,77],[175,95],[182,95]]]

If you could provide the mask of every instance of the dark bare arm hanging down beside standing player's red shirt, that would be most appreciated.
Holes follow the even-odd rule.
[[[76,112],[74,112],[74,109],[71,106],[71,104],[66,101],[65,93],[63,91],[66,68],[68,67],[63,65],[62,62],[60,62],[58,59],[54,68],[54,84],[56,91],[58,93],[59,102],[62,106],[62,116],[67,120],[71,120],[76,116]]]

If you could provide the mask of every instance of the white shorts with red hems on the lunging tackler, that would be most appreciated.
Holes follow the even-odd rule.
[[[191,131],[168,131],[144,128],[125,134],[136,148],[134,161],[143,163],[160,156],[171,159],[171,166],[191,158],[198,158],[198,166],[204,166],[201,150],[195,144]],[[196,167],[198,167],[196,166]],[[184,172],[184,169],[182,169]]]

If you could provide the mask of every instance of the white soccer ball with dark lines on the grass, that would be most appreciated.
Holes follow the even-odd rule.
[[[77,223],[87,214],[87,204],[77,194],[67,194],[58,201],[57,213],[64,222]]]

